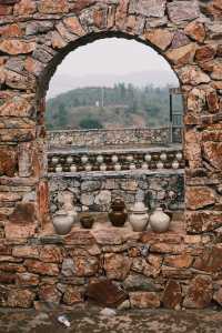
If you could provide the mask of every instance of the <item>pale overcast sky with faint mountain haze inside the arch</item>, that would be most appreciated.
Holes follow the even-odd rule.
[[[150,78],[149,72],[152,73]],[[141,85],[144,75],[148,83],[154,78],[154,85],[161,84],[163,77],[164,84],[168,80],[169,83],[178,81],[169,63],[150,47],[134,40],[101,39],[78,48],[64,58],[51,79],[48,95],[78,87],[113,85],[114,81],[133,81]]]

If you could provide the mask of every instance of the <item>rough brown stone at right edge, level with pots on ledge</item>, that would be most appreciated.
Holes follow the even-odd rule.
[[[192,233],[213,231],[222,225],[221,212],[186,212],[186,229]]]

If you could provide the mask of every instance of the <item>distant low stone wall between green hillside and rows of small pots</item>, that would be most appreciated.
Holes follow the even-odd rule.
[[[151,144],[164,143],[170,140],[169,128],[142,128],[117,130],[70,130],[49,131],[48,142],[50,147],[103,147],[120,144]]]

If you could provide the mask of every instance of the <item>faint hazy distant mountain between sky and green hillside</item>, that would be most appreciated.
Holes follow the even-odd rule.
[[[60,93],[83,87],[113,87],[117,82],[132,83],[135,87],[152,84],[153,87],[165,87],[168,84],[178,87],[179,81],[173,71],[145,71],[124,75],[98,74],[87,77],[74,77],[72,74],[56,74],[48,91],[48,99]]]

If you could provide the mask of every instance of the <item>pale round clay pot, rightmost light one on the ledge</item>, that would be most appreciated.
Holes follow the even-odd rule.
[[[162,208],[157,208],[150,215],[150,226],[154,232],[167,232],[170,228],[170,216],[163,212]]]

